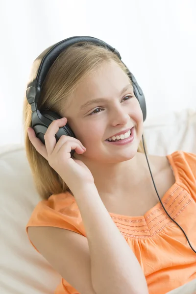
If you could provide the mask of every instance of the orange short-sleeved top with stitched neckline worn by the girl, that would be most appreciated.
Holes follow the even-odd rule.
[[[196,155],[175,151],[167,158],[175,183],[162,202],[196,250]],[[165,294],[196,278],[196,253],[160,202],[144,216],[109,214],[136,255],[146,276],[149,294]],[[41,200],[26,225],[26,233],[29,226],[59,227],[86,237],[78,206],[68,192]],[[79,293],[62,278],[55,294]]]

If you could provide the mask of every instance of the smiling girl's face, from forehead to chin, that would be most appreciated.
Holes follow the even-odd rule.
[[[136,154],[143,133],[143,114],[128,76],[114,61],[103,63],[100,71],[82,81],[61,115],[86,147],[84,154],[74,153],[74,157],[118,163]],[[131,143],[116,145],[106,141],[132,127]]]

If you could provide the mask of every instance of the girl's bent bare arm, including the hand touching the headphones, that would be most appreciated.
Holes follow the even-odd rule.
[[[32,129],[29,139],[73,192],[87,238],[51,227],[31,227],[29,237],[53,268],[82,294],[147,294],[140,264],[101,201],[90,170],[70,157],[71,149],[84,152],[81,142],[63,135],[56,143],[54,135],[65,123],[61,119],[49,125],[46,147]]]

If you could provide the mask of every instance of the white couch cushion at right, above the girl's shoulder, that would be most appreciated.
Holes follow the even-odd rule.
[[[176,150],[196,153],[196,109],[147,120],[144,134],[150,154],[166,155]]]

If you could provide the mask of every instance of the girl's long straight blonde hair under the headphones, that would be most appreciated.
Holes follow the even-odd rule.
[[[104,61],[115,61],[128,74],[128,69],[119,57],[103,46],[79,42],[64,50],[55,60],[42,86],[38,109],[54,111],[57,114],[69,103],[69,98],[87,74],[98,70]],[[60,115],[60,114],[59,114]],[[31,106],[24,100],[25,151],[38,194],[48,199],[52,194],[70,191],[66,183],[50,166],[48,161],[31,144],[27,127],[31,126]],[[142,141],[138,147],[144,152]]]

